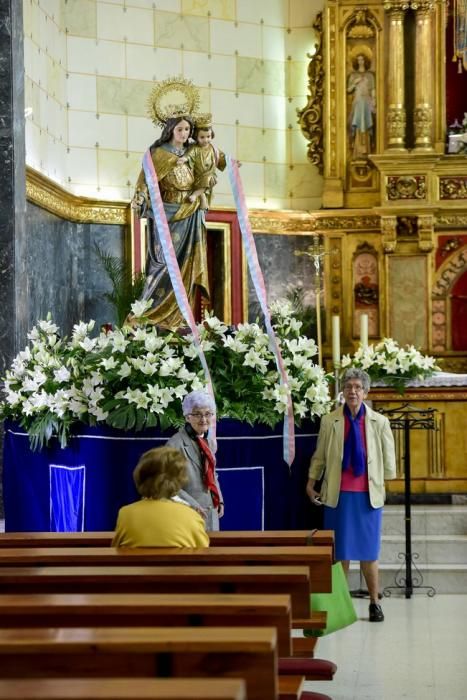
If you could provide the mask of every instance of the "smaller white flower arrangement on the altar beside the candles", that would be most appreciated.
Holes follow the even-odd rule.
[[[352,357],[344,355],[341,368],[349,367],[364,369],[372,381],[392,386],[401,394],[410,380],[431,377],[440,369],[434,357],[423,355],[413,345],[400,347],[392,338],[383,338],[377,345],[360,347]]]

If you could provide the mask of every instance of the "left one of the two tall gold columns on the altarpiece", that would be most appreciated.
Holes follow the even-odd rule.
[[[404,14],[408,7],[408,2],[405,0],[402,2],[388,0],[384,3],[384,9],[389,15],[386,151],[407,150],[405,148]]]

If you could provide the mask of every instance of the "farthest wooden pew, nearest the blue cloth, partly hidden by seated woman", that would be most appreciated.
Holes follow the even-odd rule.
[[[1,547],[109,547],[113,532],[2,532]],[[332,530],[226,530],[210,532],[212,547],[334,546]]]

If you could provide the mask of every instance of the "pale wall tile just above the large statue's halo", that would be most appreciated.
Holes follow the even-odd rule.
[[[126,77],[136,80],[164,80],[169,75],[182,74],[180,49],[127,44]]]

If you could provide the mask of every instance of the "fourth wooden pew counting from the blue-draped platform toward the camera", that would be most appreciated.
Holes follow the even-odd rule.
[[[316,624],[325,620],[317,615]],[[274,627],[281,656],[292,651],[287,595],[59,593],[5,594],[0,628]]]

